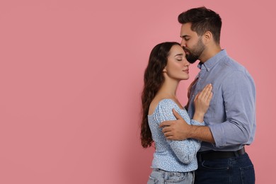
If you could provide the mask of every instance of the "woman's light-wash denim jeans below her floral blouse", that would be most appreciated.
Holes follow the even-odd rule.
[[[154,168],[149,176],[147,184],[192,184],[194,183],[194,172],[168,172]]]

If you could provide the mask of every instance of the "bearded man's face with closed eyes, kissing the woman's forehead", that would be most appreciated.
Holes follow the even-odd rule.
[[[192,31],[190,27],[191,23],[185,23],[181,26],[180,38],[188,62],[194,63],[197,59],[200,59],[202,52],[205,50],[205,45],[202,42],[202,37]]]

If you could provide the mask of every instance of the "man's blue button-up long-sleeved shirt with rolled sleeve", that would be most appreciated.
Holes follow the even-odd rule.
[[[202,142],[200,151],[236,151],[251,144],[255,136],[255,84],[245,67],[222,50],[198,65],[197,83],[190,91],[190,101],[207,84],[212,84],[213,97],[204,121],[215,144]],[[195,106],[188,107],[190,117]]]

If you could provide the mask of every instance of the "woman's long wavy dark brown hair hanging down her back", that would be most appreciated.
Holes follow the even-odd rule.
[[[141,144],[144,148],[150,147],[153,139],[149,129],[148,113],[149,105],[161,88],[165,78],[163,69],[166,67],[168,55],[173,45],[180,45],[178,42],[162,42],[156,45],[149,55],[149,64],[144,71],[144,88],[142,91],[142,123],[141,123]]]

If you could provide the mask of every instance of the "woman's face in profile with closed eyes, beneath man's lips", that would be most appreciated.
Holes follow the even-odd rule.
[[[189,65],[185,57],[185,52],[180,45],[173,45],[168,55],[168,62],[163,72],[171,79],[187,80],[189,79]]]

